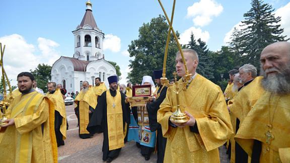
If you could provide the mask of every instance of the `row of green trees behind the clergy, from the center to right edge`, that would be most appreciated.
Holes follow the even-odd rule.
[[[289,40],[283,36],[280,28],[280,17],[275,17],[274,9],[261,0],[252,0],[251,9],[244,14],[240,28],[235,28],[228,46],[218,51],[209,51],[205,42],[197,40],[191,33],[188,44],[183,48],[194,49],[199,56],[197,72],[210,79],[222,89],[227,85],[228,71],[234,67],[250,63],[260,68],[260,53],[267,45],[277,41]],[[152,75],[154,69],[161,69],[166,44],[168,24],[163,16],[153,18],[150,23],[139,29],[139,38],[129,45],[130,68],[128,79],[132,83],[140,83],[142,75]],[[169,46],[167,74],[172,77],[175,70],[176,42]]]

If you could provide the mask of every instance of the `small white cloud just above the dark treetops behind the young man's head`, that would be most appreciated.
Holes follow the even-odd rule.
[[[205,42],[209,40],[209,33],[207,31],[202,32],[200,28],[190,27],[180,34],[179,43],[188,44],[190,41],[191,32],[193,33],[195,40],[198,40],[199,38]]]

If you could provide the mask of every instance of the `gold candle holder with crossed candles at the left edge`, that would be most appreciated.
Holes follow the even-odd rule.
[[[6,120],[9,118],[6,112],[6,109],[9,107],[9,105],[11,104],[11,102],[13,101],[14,97],[12,96],[12,88],[10,85],[10,81],[7,77],[7,74],[5,72],[4,69],[4,65],[3,65],[3,55],[4,55],[4,50],[5,50],[5,45],[2,49],[2,44],[0,43],[0,49],[1,49],[1,60],[0,60],[0,67],[2,70],[2,84],[3,84],[3,100],[0,101],[0,108],[1,108],[1,113],[0,113],[0,126],[3,126],[6,124]],[[7,90],[6,90],[6,84],[9,87],[9,91],[10,91],[10,96],[9,98],[7,97]]]

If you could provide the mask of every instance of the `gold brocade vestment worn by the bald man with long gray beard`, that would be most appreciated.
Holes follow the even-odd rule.
[[[265,92],[240,125],[235,136],[236,141],[249,155],[252,155],[253,139],[261,141],[260,162],[280,162],[281,160],[290,162],[290,152],[283,152],[284,148],[290,147],[289,106],[289,94],[278,96]],[[266,137],[269,131],[267,125],[272,126],[269,146]],[[279,152],[282,159],[279,157]]]

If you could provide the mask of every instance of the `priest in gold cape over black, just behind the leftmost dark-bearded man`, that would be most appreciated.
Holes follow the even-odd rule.
[[[50,106],[54,108],[54,129],[57,146],[64,145],[66,139],[66,114],[62,94],[56,89],[56,83],[47,83],[48,93],[46,97],[51,101]]]

